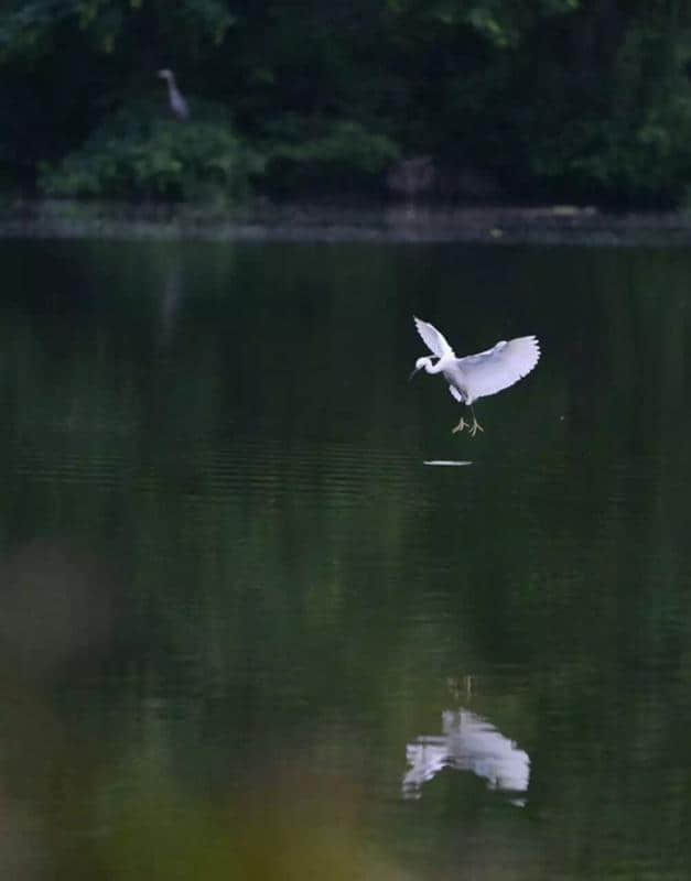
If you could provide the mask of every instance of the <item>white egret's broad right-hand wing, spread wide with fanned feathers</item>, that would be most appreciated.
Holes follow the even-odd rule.
[[[457,358],[456,366],[463,372],[469,398],[475,400],[508,389],[530,373],[539,360],[540,345],[531,336],[503,340],[487,351]]]

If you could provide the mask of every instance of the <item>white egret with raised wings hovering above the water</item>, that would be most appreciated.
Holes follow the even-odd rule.
[[[452,429],[454,434],[467,428],[471,437],[475,437],[478,431],[484,432],[475,418],[473,401],[508,389],[530,373],[540,359],[540,346],[535,336],[517,337],[508,342],[501,340],[486,351],[456,358],[454,350],[433,325],[421,322],[420,318],[414,318],[414,322],[432,357],[418,358],[410,379],[422,369],[425,373],[442,373],[455,400],[471,407],[473,424],[462,416],[461,422]],[[433,363],[432,358],[439,358],[436,363]]]

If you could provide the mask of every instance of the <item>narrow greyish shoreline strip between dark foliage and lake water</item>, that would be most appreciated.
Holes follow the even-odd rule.
[[[0,237],[680,247],[691,246],[691,213],[612,214],[571,205],[225,208],[18,199],[0,207]]]

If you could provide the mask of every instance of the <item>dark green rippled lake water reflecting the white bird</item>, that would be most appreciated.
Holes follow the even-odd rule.
[[[0,252],[2,878],[688,878],[690,251]]]

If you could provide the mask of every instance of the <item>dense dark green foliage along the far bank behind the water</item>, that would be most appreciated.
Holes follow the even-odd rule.
[[[8,188],[373,194],[428,156],[422,197],[652,206],[691,174],[679,0],[8,0],[0,65]]]

